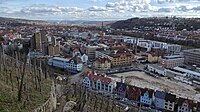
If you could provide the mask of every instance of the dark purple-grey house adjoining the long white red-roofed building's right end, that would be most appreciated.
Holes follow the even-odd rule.
[[[123,82],[117,82],[117,86],[115,88],[115,94],[121,98],[126,97],[126,91],[127,91],[127,84]]]

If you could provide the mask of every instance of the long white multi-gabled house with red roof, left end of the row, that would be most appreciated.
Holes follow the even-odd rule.
[[[83,85],[100,92],[113,93],[116,82],[106,75],[90,72],[84,75]]]

